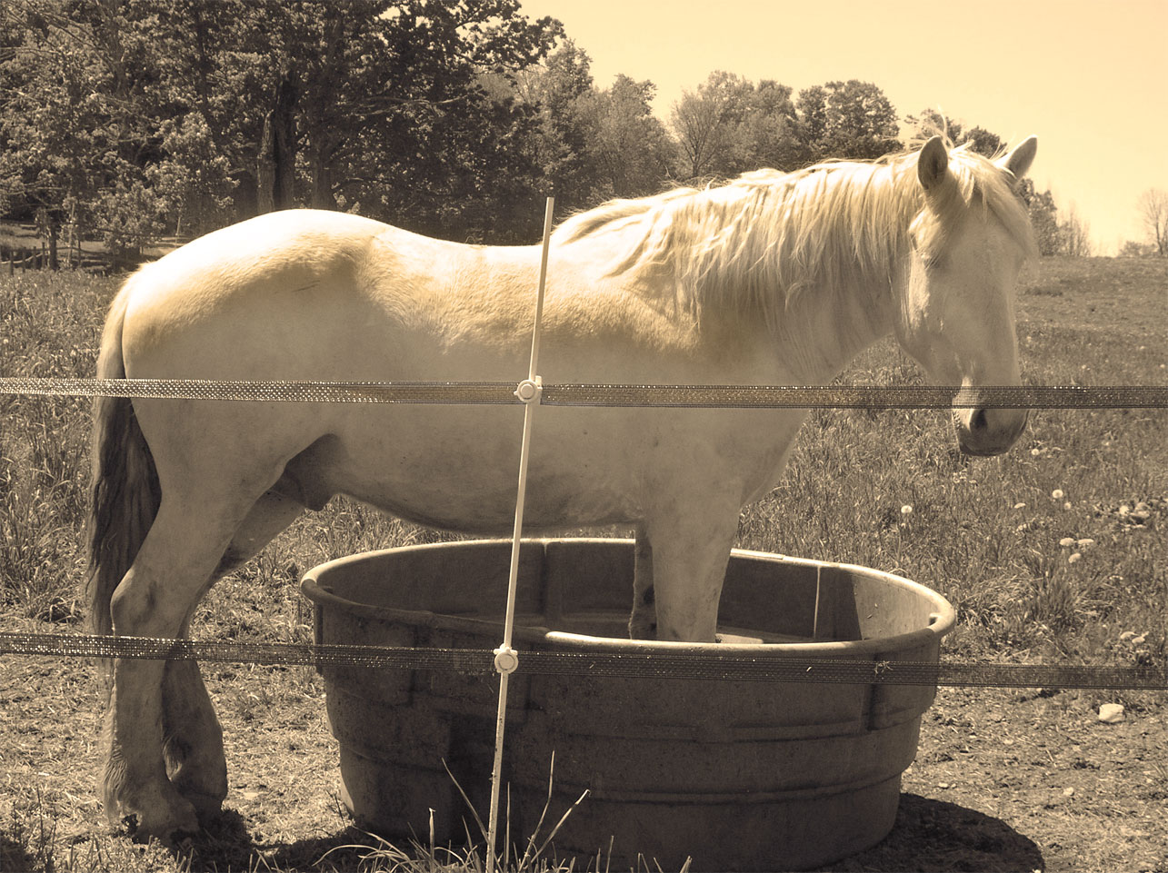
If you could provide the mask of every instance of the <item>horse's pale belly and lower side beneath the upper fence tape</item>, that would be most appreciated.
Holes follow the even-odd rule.
[[[662,501],[773,483],[799,412],[541,407],[524,519],[533,529],[644,518]],[[523,411],[489,406],[355,410],[321,459],[329,490],[471,532],[510,530]]]

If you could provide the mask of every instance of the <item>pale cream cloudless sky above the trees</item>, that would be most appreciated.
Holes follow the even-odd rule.
[[[1098,254],[1147,238],[1136,201],[1168,190],[1168,0],[521,0],[592,60],[658,88],[668,120],[714,70],[798,93],[878,85],[903,119],[936,109],[1009,142],[1038,137],[1030,176],[1086,221]]]

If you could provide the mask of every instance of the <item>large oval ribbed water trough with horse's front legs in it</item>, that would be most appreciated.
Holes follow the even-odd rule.
[[[317,641],[494,649],[509,557],[508,540],[480,540],[315,567],[303,589]],[[687,857],[695,871],[795,869],[888,834],[934,687],[527,675],[522,652],[734,647],[758,658],[937,662],[954,621],[944,598],[876,570],[736,551],[721,642],[682,645],[627,638],[632,591],[631,540],[523,543],[503,768],[512,843],[526,841],[548,803],[552,753],[545,827],[589,790],[554,841],[555,858],[576,857],[577,868],[596,868],[599,851],[611,869],[679,868]],[[486,819],[494,676],[324,676],[341,794],[359,825],[425,843],[433,810],[438,843],[463,840],[472,817],[451,774]]]

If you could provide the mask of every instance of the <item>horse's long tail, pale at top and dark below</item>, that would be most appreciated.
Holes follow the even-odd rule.
[[[140,274],[139,274],[140,275]],[[131,278],[110,307],[97,358],[103,379],[124,378],[121,326],[134,285]],[[93,410],[93,481],[90,516],[90,627],[109,634],[110,600],[130,570],[160,502],[158,472],[134,407],[126,397],[99,397]]]

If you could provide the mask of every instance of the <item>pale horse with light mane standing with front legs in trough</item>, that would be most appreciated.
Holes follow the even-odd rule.
[[[551,238],[549,383],[823,384],[888,333],[939,384],[1020,384],[1014,286],[1033,253],[1017,180],[940,138],[919,153],[750,173],[616,201]],[[514,380],[537,246],[439,242],[327,211],[276,212],[138,271],[104,378]],[[637,528],[633,636],[712,641],[742,507],[776,483],[805,410],[545,407],[527,526]],[[102,399],[92,614],[179,637],[214,581],[306,507],[347,494],[438,528],[508,533],[520,406]],[[1026,412],[954,413],[1004,452]],[[118,659],[104,802],[138,838],[194,832],[227,796],[193,662]]]

